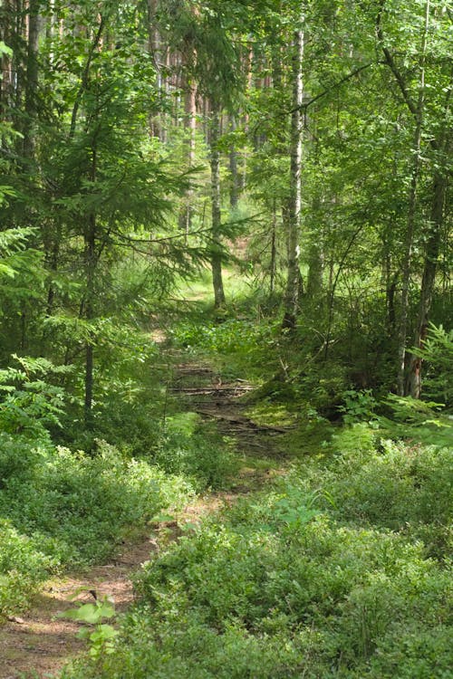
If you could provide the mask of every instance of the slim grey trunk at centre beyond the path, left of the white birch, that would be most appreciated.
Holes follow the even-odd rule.
[[[209,135],[211,165],[211,215],[212,215],[212,254],[211,269],[216,309],[225,305],[225,292],[222,278],[222,253],[220,249],[220,154],[218,138],[220,117],[217,103],[212,106],[211,129]]]

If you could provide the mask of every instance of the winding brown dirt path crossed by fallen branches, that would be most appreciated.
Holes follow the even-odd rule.
[[[176,366],[172,396],[182,408],[217,423],[218,431],[233,441],[240,469],[231,490],[208,493],[191,502],[174,521],[152,526],[151,535],[126,540],[110,563],[89,571],[49,581],[23,617],[11,617],[0,627],[0,679],[44,679],[82,654],[86,643],[77,638],[80,626],[56,617],[75,603],[109,596],[123,612],[133,601],[134,573],[170,540],[178,540],[184,523],[196,523],[241,495],[258,490],[275,475],[285,473],[285,457],[278,446],[284,427],[257,424],[244,414],[241,397],[253,390],[245,380],[224,382],[208,364]]]

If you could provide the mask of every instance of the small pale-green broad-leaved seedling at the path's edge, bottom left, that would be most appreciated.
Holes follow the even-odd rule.
[[[74,597],[78,597],[78,590]],[[86,639],[90,644],[89,653],[93,660],[99,661],[104,655],[113,653],[114,641],[118,631],[104,620],[116,616],[114,601],[111,597],[95,598],[93,603],[81,604],[79,607],[70,608],[58,617],[67,617],[85,626],[78,632],[80,639]]]

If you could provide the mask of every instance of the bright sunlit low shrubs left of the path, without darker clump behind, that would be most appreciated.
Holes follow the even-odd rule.
[[[50,575],[107,559],[130,527],[193,494],[182,475],[105,442],[87,455],[1,434],[0,616],[24,608]]]

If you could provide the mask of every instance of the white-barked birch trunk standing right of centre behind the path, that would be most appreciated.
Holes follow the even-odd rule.
[[[302,17],[301,17],[302,18]],[[304,91],[303,82],[304,62],[304,31],[302,26],[294,33],[293,54],[293,113],[291,118],[291,177],[290,177],[290,200],[288,206],[287,252],[288,270],[286,290],[284,293],[284,320],[283,327],[294,330],[299,311],[299,286],[300,286],[300,221],[302,207],[302,142],[303,142],[303,115],[302,100]]]

